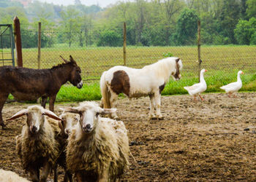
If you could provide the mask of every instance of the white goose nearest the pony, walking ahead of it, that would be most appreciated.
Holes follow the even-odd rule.
[[[184,87],[189,92],[189,95],[194,95],[194,100],[196,100],[196,96],[199,95],[201,100],[204,100],[200,93],[206,91],[207,89],[207,84],[205,79],[203,78],[204,72],[206,72],[206,69],[202,69],[200,71],[200,82],[198,84],[193,84],[192,86],[189,87]]]

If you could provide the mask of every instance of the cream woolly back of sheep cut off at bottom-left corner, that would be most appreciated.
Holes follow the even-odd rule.
[[[0,169],[0,181],[2,182],[29,182],[26,178],[20,177],[18,174],[10,170]]]

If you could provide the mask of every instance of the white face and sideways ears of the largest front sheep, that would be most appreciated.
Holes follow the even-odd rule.
[[[90,133],[97,127],[99,114],[111,114],[116,112],[116,108],[100,108],[97,103],[83,102],[76,108],[66,108],[64,111],[79,114],[79,123],[82,131]]]

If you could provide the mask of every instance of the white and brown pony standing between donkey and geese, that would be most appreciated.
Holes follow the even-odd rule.
[[[113,108],[113,103],[119,93],[124,93],[128,98],[150,98],[150,118],[163,119],[160,111],[161,92],[170,76],[174,80],[181,79],[180,58],[165,58],[141,69],[128,68],[126,66],[114,66],[103,72],[100,78],[100,90],[102,93],[102,108]],[[116,113],[111,118],[118,119]]]

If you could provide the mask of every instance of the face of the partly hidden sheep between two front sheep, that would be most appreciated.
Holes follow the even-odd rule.
[[[79,115],[64,112],[59,117],[62,119],[59,122],[59,128],[65,135],[69,135],[72,127],[79,121]]]

